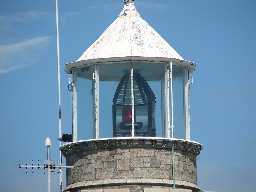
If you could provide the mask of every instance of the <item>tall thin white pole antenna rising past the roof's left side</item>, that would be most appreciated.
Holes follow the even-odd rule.
[[[60,110],[60,45],[59,45],[59,17],[58,17],[58,0],[56,4],[56,31],[57,31],[57,55],[58,55],[58,91],[59,91],[59,138],[61,138],[61,110]],[[61,146],[61,140],[59,140]],[[62,155],[60,153],[60,166],[62,166]],[[60,173],[60,192],[62,192],[62,173]]]

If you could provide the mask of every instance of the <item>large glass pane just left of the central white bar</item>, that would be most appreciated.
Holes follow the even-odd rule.
[[[131,62],[102,64],[98,74],[100,138],[130,136]]]

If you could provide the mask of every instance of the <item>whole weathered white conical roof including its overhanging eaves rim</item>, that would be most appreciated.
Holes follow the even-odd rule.
[[[65,65],[66,73],[72,68],[93,63],[140,60],[174,62],[189,68],[196,63],[184,60],[148,23],[140,17],[134,2],[122,0],[124,8],[107,30],[73,63]]]

